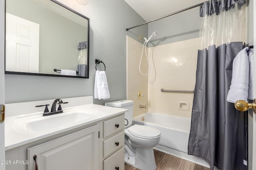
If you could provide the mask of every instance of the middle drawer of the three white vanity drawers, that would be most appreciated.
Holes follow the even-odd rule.
[[[108,156],[115,150],[123,147],[124,145],[124,131],[114,135],[113,137],[104,141],[104,157]]]

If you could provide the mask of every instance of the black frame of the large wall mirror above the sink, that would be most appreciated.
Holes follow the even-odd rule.
[[[90,19],[87,18],[86,16],[76,12],[75,10],[69,8],[68,6],[58,2],[57,0],[50,0],[52,2],[55,2],[56,4],[62,6],[63,8],[66,8],[67,10],[70,10],[71,12],[74,12],[75,14],[81,16],[82,18],[85,18],[87,21],[88,21],[88,27],[87,27],[87,35],[88,35],[88,38],[87,38],[87,45],[88,45],[88,48],[87,48],[87,54],[88,54],[88,57],[87,57],[87,75],[88,76],[65,76],[65,75],[58,75],[58,74],[42,74],[42,73],[31,73],[31,72],[14,72],[14,71],[6,71],[5,70],[5,63],[4,63],[4,73],[5,74],[16,74],[16,75],[30,75],[30,76],[51,76],[51,77],[70,77],[70,78],[89,78],[89,37],[90,37],[90,34],[89,34],[89,30],[90,30]],[[6,5],[6,0],[5,0],[5,5]],[[6,6],[5,6],[5,18],[4,20],[6,21]],[[4,23],[4,29],[6,29],[6,23]],[[6,31],[4,31],[6,32]],[[4,35],[4,41],[6,41],[6,35]],[[4,44],[4,49],[6,49],[6,45]],[[4,50],[4,58],[6,57],[6,51]],[[6,61],[6,59],[5,59]]]

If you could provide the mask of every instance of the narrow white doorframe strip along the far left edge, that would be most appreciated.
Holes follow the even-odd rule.
[[[0,104],[4,104],[4,0],[0,0]],[[4,122],[0,123],[0,161],[5,160]],[[0,162],[0,170],[4,170]]]

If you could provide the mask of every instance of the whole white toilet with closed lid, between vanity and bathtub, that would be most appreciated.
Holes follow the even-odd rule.
[[[125,155],[124,161],[141,170],[155,170],[156,162],[153,147],[160,141],[160,131],[153,127],[132,125],[133,101],[120,100],[107,102],[105,106],[128,109],[125,113]]]

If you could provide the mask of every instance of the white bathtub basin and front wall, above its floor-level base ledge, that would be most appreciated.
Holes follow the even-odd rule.
[[[188,153],[191,119],[157,113],[144,113],[134,117],[132,124],[154,127],[161,132],[158,145]]]

